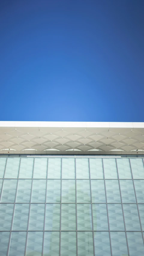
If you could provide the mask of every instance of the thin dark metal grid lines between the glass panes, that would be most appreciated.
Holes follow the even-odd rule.
[[[48,161],[49,158],[47,158],[47,161]],[[116,158],[115,158],[116,159]],[[130,161],[130,158],[129,158],[129,162],[130,162],[130,167],[131,167],[131,161]],[[89,163],[89,158],[88,158],[88,163]],[[103,163],[103,158],[102,158],[102,163]],[[21,158],[20,158],[20,163],[19,163],[19,170],[20,170],[20,164],[21,164]],[[143,159],[143,164],[144,164],[144,159]],[[6,159],[6,164],[5,164],[5,168],[4,168],[4,175],[5,175],[5,170],[6,170],[6,165],[7,165],[7,159]],[[35,165],[35,157],[34,157],[34,164],[33,164],[33,171],[32,171],[32,186],[33,186],[33,174],[34,174],[34,165]],[[118,174],[118,179],[113,179],[113,180],[121,180],[119,179],[119,171],[118,171],[118,166],[117,166],[117,160],[116,160],[116,168],[117,168],[117,174]],[[47,162],[47,173],[48,173],[48,162]],[[103,173],[104,173],[104,164],[103,164]],[[133,185],[134,185],[134,178],[133,178],[133,173],[132,173],[132,168],[131,168],[131,174],[132,174],[132,179],[125,179],[125,180],[133,180]],[[13,179],[13,178],[7,178],[7,179]],[[16,178],[15,178],[16,179]],[[41,179],[41,178],[40,178]],[[18,171],[18,178],[17,178],[17,183],[16,183],[16,193],[15,193],[15,200],[14,200],[14,207],[13,207],[13,215],[12,215],[12,221],[11,221],[11,227],[10,227],[10,230],[8,231],[4,231],[4,232],[10,232],[10,236],[9,236],[9,242],[8,242],[8,248],[7,248],[7,256],[9,254],[9,248],[10,248],[10,239],[11,239],[11,232],[22,232],[23,230],[13,230],[12,231],[12,225],[13,225],[13,217],[14,217],[14,211],[15,211],[15,204],[16,203],[16,195],[17,195],[17,188],[18,188],[18,180],[19,180],[19,171]],[[46,194],[47,194],[47,176],[46,176]],[[62,190],[62,157],[61,157],[61,190]],[[74,179],[73,179],[74,180]],[[80,179],[80,180],[83,180],[83,179]],[[90,176],[90,164],[89,164],[89,179],[90,180],[90,196],[91,196],[91,176]],[[92,179],[93,180],[93,179]],[[106,183],[105,183],[105,176],[104,176],[104,186],[105,186],[105,194],[106,194]],[[111,180],[111,179],[109,179]],[[124,179],[123,179],[124,180]],[[137,180],[142,180],[142,179],[137,179]],[[2,187],[1,187],[1,194],[2,194],[2,188],[3,188],[3,183],[4,183],[4,176],[3,176],[3,181],[2,181]],[[75,185],[76,185],[76,161],[75,161]],[[27,237],[28,237],[28,228],[29,228],[29,217],[30,217],[30,206],[31,204],[31,198],[32,198],[32,186],[31,186],[31,195],[30,195],[30,203],[29,203],[29,215],[28,215],[28,225],[27,225],[27,230],[26,230],[26,245],[27,245]],[[75,188],[76,189],[76,188]],[[109,227],[109,236],[110,236],[110,232],[125,232],[125,235],[126,235],[126,242],[127,242],[127,247],[128,247],[128,239],[127,239],[127,233],[128,232],[139,232],[139,233],[142,233],[142,237],[143,237],[143,242],[144,242],[144,230],[142,229],[142,225],[141,225],[141,219],[140,219],[140,213],[139,213],[139,208],[138,208],[138,202],[137,202],[137,196],[136,196],[136,191],[135,191],[135,186],[134,186],[134,194],[135,194],[135,198],[136,198],[136,203],[122,203],[122,194],[121,194],[121,188],[120,188],[120,182],[119,182],[119,189],[120,189],[120,196],[121,196],[121,203],[107,203],[107,194],[106,194],[106,206],[108,204],[122,204],[122,214],[123,214],[123,219],[124,219],[124,226],[125,226],[125,217],[124,217],[124,210],[123,210],[123,204],[137,204],[137,210],[138,210],[138,216],[139,216],[139,221],[140,221],[140,227],[141,227],[141,231],[138,231],[138,230],[133,230],[133,231],[128,231],[126,230],[126,226],[125,226],[125,231],[122,231],[122,230],[115,230],[115,231],[110,231],[110,224],[109,224],[109,215],[108,215],[108,207],[107,207],[107,218],[108,218],[108,227]],[[0,194],[0,198],[1,198],[1,194]],[[44,211],[44,228],[45,228],[45,214],[46,214],[46,194],[45,194],[45,203],[41,203],[41,204],[45,204],[45,211]],[[92,197],[91,197],[92,198]],[[77,197],[76,197],[76,200],[77,200]],[[67,202],[68,203],[68,202]],[[1,203],[1,204],[6,204],[6,203]],[[11,204],[11,203],[10,203]],[[24,204],[24,203],[23,203]],[[26,203],[27,204],[27,203]],[[52,204],[52,203],[50,203]],[[59,203],[57,203],[59,204]],[[60,240],[59,240],[59,245],[61,246],[61,232],[63,232],[64,230],[61,231],[61,200],[60,200]],[[69,203],[70,204],[70,203]],[[82,202],[81,203],[78,203],[78,204],[83,204]],[[87,203],[89,204],[89,203]],[[104,204],[104,203],[93,203],[93,204]],[[143,204],[143,203],[139,203],[139,204]],[[77,201],[76,201],[76,205],[77,205]],[[93,234],[93,245],[94,245],[94,232],[101,232],[101,231],[104,231],[106,232],[106,230],[98,230],[98,231],[95,231],[94,230],[94,227],[93,227],[93,214],[92,214],[92,200],[91,200],[91,218],[92,218],[92,231],[88,231],[88,230],[85,230],[86,232],[92,232]],[[40,231],[40,230],[35,230],[35,231]],[[35,231],[30,231],[30,232],[35,232]],[[44,250],[44,233],[47,232],[47,231],[43,231],[43,246],[42,246],[42,255],[43,255],[43,250]],[[40,231],[40,232],[42,232]],[[48,230],[48,232],[51,231],[51,230]],[[69,230],[66,230],[67,232],[69,232]],[[70,230],[71,231],[71,230]],[[76,232],[76,255],[78,255],[78,245],[77,245],[77,232],[85,232],[84,230],[77,230],[77,207],[76,207],[76,231],[71,231],[71,232]],[[3,231],[1,231],[3,232]],[[55,231],[52,231],[52,232],[58,232],[57,230]],[[110,239],[110,249],[111,249],[111,255],[112,255],[112,245],[111,245],[111,239]],[[25,246],[25,254],[26,255],[26,246]],[[128,247],[128,255],[131,256],[130,252],[129,252],[129,247]],[[59,256],[60,256],[60,250],[59,250]],[[95,246],[94,246],[94,256],[95,256]]]

